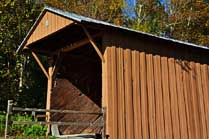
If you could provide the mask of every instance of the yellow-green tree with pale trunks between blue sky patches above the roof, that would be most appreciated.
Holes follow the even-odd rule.
[[[128,27],[157,35],[163,33],[166,12],[160,0],[137,0],[134,9],[134,16],[127,20]]]

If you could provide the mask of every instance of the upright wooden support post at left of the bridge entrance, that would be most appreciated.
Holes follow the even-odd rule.
[[[52,84],[53,84],[53,67],[49,66],[48,69],[48,85],[47,85],[47,100],[46,100],[46,109],[50,110],[50,106],[51,106],[51,94],[52,94]],[[50,122],[50,112],[46,112],[46,122]],[[47,125],[47,133],[46,135],[48,135],[50,132],[50,125]]]

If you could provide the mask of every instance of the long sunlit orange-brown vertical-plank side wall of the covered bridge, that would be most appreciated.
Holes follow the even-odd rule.
[[[207,64],[108,47],[103,65],[110,139],[209,137]]]

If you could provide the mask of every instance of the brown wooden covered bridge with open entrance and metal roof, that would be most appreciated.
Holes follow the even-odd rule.
[[[207,47],[46,7],[17,51],[32,53],[48,78],[47,109],[106,107],[109,139],[209,138]],[[37,54],[48,57],[48,71]]]

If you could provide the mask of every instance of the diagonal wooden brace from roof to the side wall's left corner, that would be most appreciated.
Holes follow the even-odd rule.
[[[86,34],[86,36],[89,39],[89,42],[92,44],[92,46],[94,47],[94,49],[96,50],[97,54],[99,55],[99,57],[101,58],[102,62],[105,62],[103,54],[101,53],[101,51],[99,50],[99,48],[97,47],[93,37],[89,34],[89,32],[87,31],[87,29],[82,25],[82,28]]]

